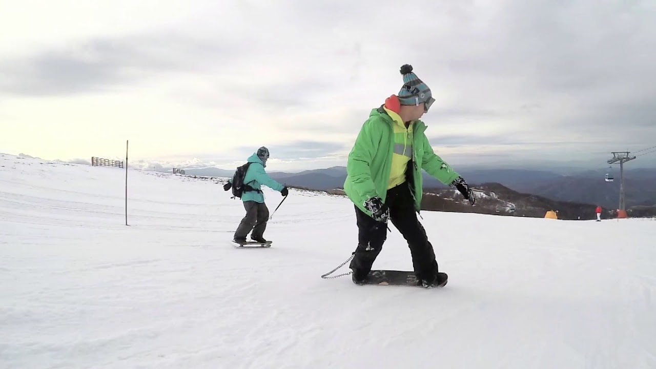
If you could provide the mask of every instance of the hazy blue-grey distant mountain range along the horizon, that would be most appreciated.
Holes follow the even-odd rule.
[[[233,170],[218,168],[185,169],[187,175],[232,177]],[[617,166],[611,173],[615,181],[605,182],[605,171],[588,170],[559,174],[554,171],[530,169],[476,169],[463,168],[459,173],[470,183],[500,183],[512,190],[535,194],[552,200],[599,204],[606,209],[619,206],[619,174]],[[299,173],[269,172],[269,175],[289,186],[314,190],[342,188],[346,167],[313,169]],[[446,188],[439,181],[423,173],[424,189]],[[656,169],[625,169],[626,206],[652,206],[656,204]]]

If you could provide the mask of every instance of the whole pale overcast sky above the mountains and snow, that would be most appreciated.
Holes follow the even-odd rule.
[[[0,35],[9,154],[345,165],[406,63],[454,165],[656,146],[653,0],[0,0]]]

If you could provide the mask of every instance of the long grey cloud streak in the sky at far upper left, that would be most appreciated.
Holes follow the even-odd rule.
[[[213,62],[235,58],[241,48],[224,39],[167,34],[91,39],[25,58],[0,58],[0,91],[43,96],[117,89],[162,72],[211,70]]]

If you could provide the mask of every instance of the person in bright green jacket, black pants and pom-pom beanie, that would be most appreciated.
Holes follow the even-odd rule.
[[[441,183],[457,188],[474,205],[472,190],[433,149],[420,120],[435,101],[412,66],[401,66],[403,87],[374,108],[348,155],[344,192],[356,208],[358,247],[350,263],[352,279],[362,284],[387,238],[388,220],[408,243],[413,269],[422,286],[443,286],[435,252],[417,214],[424,169]]]

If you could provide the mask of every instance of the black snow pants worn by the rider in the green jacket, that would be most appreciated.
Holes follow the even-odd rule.
[[[435,251],[428,241],[426,230],[419,223],[415,212],[414,198],[408,183],[390,188],[385,204],[390,208],[390,221],[407,241],[417,278],[432,280],[438,273]],[[371,271],[373,262],[382,250],[387,239],[387,227],[375,221],[356,206],[358,223],[358,247],[353,255],[350,268],[356,276],[365,276]]]

